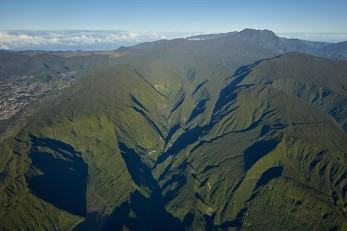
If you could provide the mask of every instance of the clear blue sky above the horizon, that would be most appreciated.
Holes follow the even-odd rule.
[[[347,33],[346,0],[1,0],[0,30]]]

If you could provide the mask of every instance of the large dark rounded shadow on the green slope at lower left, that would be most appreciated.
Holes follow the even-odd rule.
[[[59,140],[30,138],[35,173],[26,180],[31,192],[57,208],[85,216],[88,166],[80,154]]]

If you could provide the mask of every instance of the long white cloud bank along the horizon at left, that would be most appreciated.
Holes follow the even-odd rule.
[[[196,34],[196,33],[195,33]],[[0,50],[117,49],[142,42],[174,39],[193,33],[128,31],[0,31]]]

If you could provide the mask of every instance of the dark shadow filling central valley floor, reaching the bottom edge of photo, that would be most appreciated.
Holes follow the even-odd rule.
[[[166,201],[161,188],[153,178],[151,169],[142,162],[135,150],[119,143],[122,157],[134,182],[150,190],[146,197],[135,190],[129,202],[116,208],[104,225],[104,230],[184,230],[184,224],[165,210]],[[133,212],[133,216],[129,213]]]

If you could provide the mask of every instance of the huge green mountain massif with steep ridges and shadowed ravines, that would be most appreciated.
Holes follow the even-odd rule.
[[[112,52],[1,143],[1,229],[346,229],[347,62],[274,43]]]

